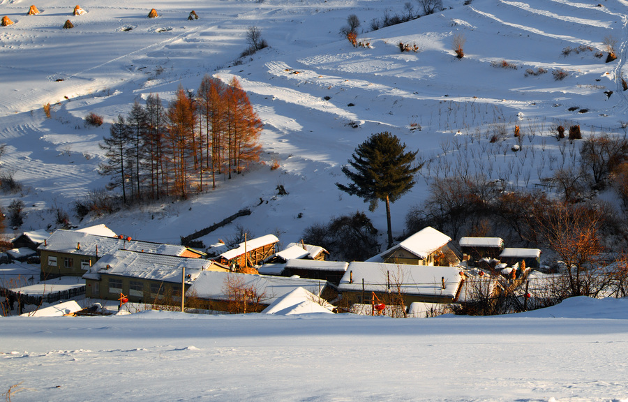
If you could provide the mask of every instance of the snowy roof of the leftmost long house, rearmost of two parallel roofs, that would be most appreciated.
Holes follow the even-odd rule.
[[[40,244],[37,249],[40,251],[57,251],[59,253],[94,256],[112,254],[117,250],[144,251],[145,253],[164,255],[181,255],[181,253],[186,251],[186,247],[174,244],[118,239],[62,229],[52,233],[45,244]]]

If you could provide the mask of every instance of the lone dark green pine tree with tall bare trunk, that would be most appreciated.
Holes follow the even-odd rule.
[[[390,223],[390,203],[414,186],[414,173],[421,167],[412,166],[417,152],[405,152],[405,144],[396,135],[387,131],[377,133],[362,142],[352,154],[349,165],[343,166],[343,173],[352,181],[348,185],[336,183],[339,189],[370,202],[369,211],[375,211],[378,201],[386,202],[388,223],[388,247],[393,244]]]

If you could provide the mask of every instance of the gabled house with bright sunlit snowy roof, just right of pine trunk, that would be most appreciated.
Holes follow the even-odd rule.
[[[443,267],[460,264],[458,251],[451,244],[451,237],[429,226],[366,261]]]

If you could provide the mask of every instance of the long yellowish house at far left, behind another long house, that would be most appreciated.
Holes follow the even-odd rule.
[[[137,241],[130,237],[97,236],[74,230],[56,230],[37,248],[41,257],[41,278],[82,276],[103,255],[117,250],[199,258],[204,253],[173,244]]]

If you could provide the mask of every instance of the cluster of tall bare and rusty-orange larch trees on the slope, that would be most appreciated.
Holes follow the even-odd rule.
[[[106,162],[100,174],[107,188],[119,188],[123,201],[186,198],[203,191],[220,175],[259,161],[262,121],[234,77],[230,83],[206,75],[196,94],[179,87],[166,106],[156,94],[135,101],[127,117],[118,116],[100,144]]]

